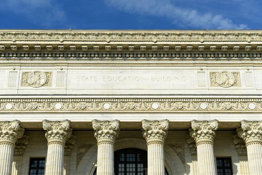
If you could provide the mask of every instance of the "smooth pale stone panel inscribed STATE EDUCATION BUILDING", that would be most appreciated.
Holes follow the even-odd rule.
[[[195,88],[193,70],[69,70],[68,89]]]

